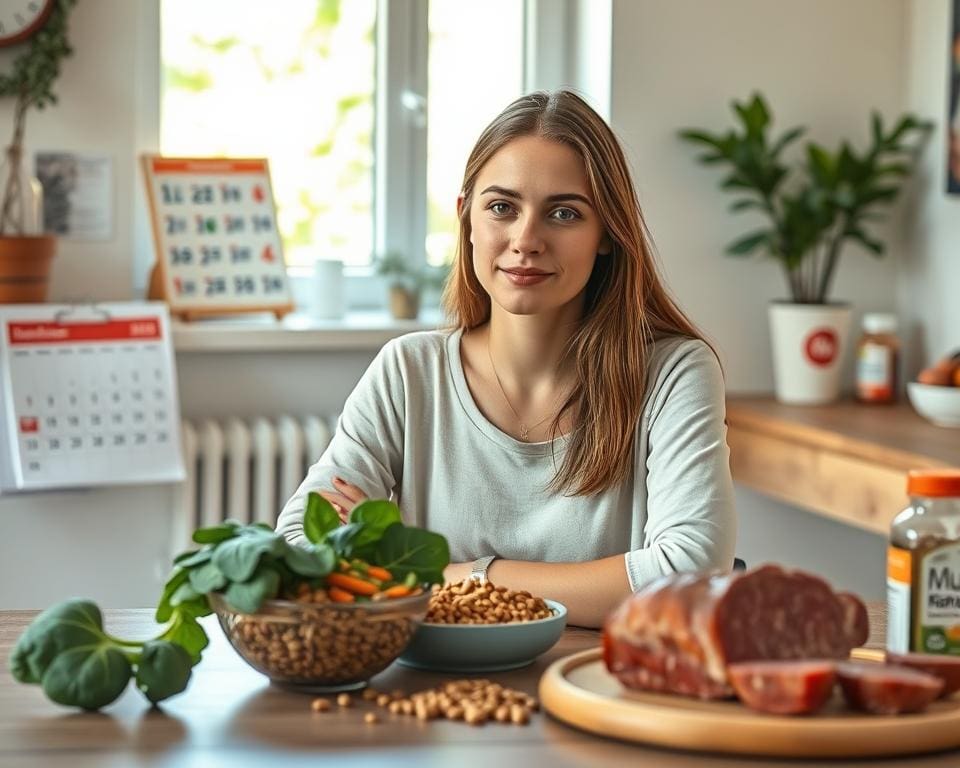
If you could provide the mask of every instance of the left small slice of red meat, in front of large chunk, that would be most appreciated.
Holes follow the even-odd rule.
[[[833,661],[743,661],[727,667],[744,704],[773,715],[809,715],[833,693]]]

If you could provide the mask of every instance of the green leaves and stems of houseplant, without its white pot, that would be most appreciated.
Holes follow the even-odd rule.
[[[705,148],[698,157],[701,163],[728,171],[720,187],[738,195],[732,212],[754,210],[767,220],[726,252],[765,252],[783,268],[795,303],[825,304],[846,242],[883,254],[883,243],[867,225],[882,220],[877,209],[896,199],[932,124],[905,115],[887,130],[875,112],[870,145],[863,151],[846,141],[833,151],[809,142],[803,161],[790,166],[783,152],[805,128],[770,136],[772,117],[760,94],[748,102],[734,101],[733,110],[739,124],[724,134],[697,129],[679,133]]]

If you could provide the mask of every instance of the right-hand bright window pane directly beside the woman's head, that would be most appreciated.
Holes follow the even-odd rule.
[[[480,131],[523,89],[521,0],[430,0],[427,260],[453,257],[456,201]]]

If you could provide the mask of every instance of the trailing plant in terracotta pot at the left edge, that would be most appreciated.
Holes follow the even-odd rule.
[[[67,40],[67,17],[75,2],[35,4],[37,16],[29,27],[29,39],[22,43],[12,67],[0,74],[0,96],[14,98],[13,138],[0,167],[0,303],[47,298],[56,239],[42,234],[42,191],[24,168],[23,138],[27,111],[57,102],[53,84],[61,60],[73,52]]]

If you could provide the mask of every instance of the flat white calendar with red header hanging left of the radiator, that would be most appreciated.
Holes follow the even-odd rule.
[[[0,493],[184,478],[160,303],[0,306]]]

